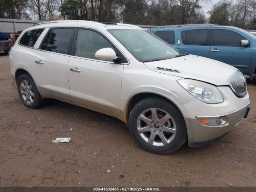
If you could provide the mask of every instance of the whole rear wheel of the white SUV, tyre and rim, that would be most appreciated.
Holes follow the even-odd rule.
[[[44,104],[36,84],[29,74],[22,74],[18,78],[18,92],[20,99],[29,108],[39,108]]]

